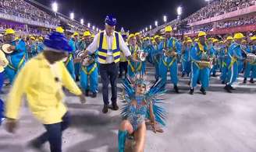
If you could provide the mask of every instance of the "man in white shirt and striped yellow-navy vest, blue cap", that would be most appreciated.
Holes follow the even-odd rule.
[[[123,54],[131,59],[129,48],[123,40],[123,37],[115,31],[116,18],[113,16],[106,16],[105,18],[105,30],[98,33],[93,42],[87,47],[87,54],[94,54],[98,50],[98,61],[100,64],[100,74],[102,81],[102,95],[104,101],[103,113],[108,112],[108,108],[118,110],[119,107],[116,104],[117,99],[117,87],[116,79],[118,77],[118,64],[120,60],[121,51]],[[108,104],[108,83],[110,81],[112,90],[112,107]]]

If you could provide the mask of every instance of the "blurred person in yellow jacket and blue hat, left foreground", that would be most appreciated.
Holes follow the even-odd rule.
[[[70,76],[62,60],[72,48],[61,33],[53,32],[44,40],[44,51],[25,64],[17,75],[6,102],[6,129],[14,133],[23,95],[33,115],[44,124],[46,132],[30,142],[40,149],[48,141],[52,152],[62,151],[62,131],[70,123],[69,112],[62,100],[62,86],[85,102],[84,95]]]

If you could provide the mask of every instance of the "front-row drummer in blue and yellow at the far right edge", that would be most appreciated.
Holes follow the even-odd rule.
[[[256,55],[256,36],[252,36],[251,38],[251,45],[247,47],[247,53]],[[256,60],[254,61],[247,61],[245,71],[244,71],[244,83],[247,83],[247,78],[250,77],[250,82],[254,83],[254,78],[256,78]]]

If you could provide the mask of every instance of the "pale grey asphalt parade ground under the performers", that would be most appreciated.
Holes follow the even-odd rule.
[[[154,80],[154,69],[149,68],[148,80]],[[255,152],[256,151],[256,85],[241,84],[239,78],[232,94],[223,90],[219,78],[211,78],[207,95],[199,87],[189,95],[188,78],[180,78],[180,94],[167,85],[164,96],[169,112],[165,133],[147,132],[146,152]],[[119,92],[121,91],[120,85]],[[9,87],[4,91],[8,92]],[[1,95],[5,98],[5,95]],[[72,115],[72,125],[63,133],[64,152],[115,152],[119,111],[103,114],[101,84],[97,98],[79,98],[67,94],[66,105]],[[119,102],[119,107],[122,104]],[[0,126],[1,152],[34,152],[27,143],[44,132],[41,123],[31,115],[26,102],[20,111],[19,128],[9,134]],[[48,143],[43,150],[49,151]]]

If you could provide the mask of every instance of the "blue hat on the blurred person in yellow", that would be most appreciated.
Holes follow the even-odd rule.
[[[54,50],[62,52],[71,52],[72,48],[69,46],[69,42],[62,33],[52,32],[44,39],[44,45]]]

